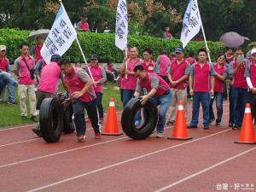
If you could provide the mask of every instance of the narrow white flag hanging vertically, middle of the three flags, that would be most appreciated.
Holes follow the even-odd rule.
[[[119,49],[125,49],[128,35],[128,15],[126,0],[119,0],[116,10],[115,45]]]

